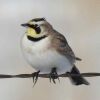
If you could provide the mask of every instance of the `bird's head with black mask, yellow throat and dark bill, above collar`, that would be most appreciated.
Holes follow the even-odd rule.
[[[48,31],[52,28],[45,18],[35,18],[21,25],[27,28],[26,35],[31,38],[48,35]]]

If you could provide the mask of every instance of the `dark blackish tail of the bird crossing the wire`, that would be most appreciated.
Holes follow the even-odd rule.
[[[77,75],[79,75],[79,76],[71,76],[71,75],[70,75],[70,79],[71,79],[71,81],[72,81],[72,83],[73,83],[74,85],[82,85],[82,84],[89,85],[89,82],[88,82],[85,78],[83,78],[82,75],[80,75],[80,72],[79,72],[79,70],[76,68],[75,65],[74,65],[74,67],[72,68],[72,70],[71,70],[70,73],[71,73],[71,74],[77,74]]]

